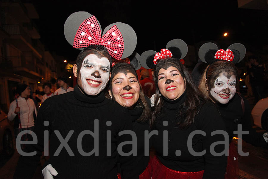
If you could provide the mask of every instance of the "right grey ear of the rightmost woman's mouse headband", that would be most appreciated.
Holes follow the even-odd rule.
[[[241,60],[243,60],[243,58],[246,55],[246,47],[240,43],[232,44],[227,49],[230,49],[233,52],[233,61],[232,62],[234,64],[239,63]]]

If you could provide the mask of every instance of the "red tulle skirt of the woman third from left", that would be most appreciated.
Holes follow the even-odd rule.
[[[202,179],[204,170],[198,172],[180,172],[164,166],[155,156],[152,159],[152,179]]]

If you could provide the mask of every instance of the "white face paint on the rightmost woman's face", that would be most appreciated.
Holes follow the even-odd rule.
[[[227,104],[236,93],[236,76],[232,75],[228,79],[222,73],[216,78],[214,88],[210,90],[210,94],[214,101],[221,104]]]

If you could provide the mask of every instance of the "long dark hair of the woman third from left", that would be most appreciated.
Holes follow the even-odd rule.
[[[154,73],[154,82],[156,87],[156,98],[155,98],[155,108],[152,114],[152,119],[149,121],[149,125],[151,128],[155,127],[155,120],[158,116],[163,114],[163,98],[159,96],[159,88],[158,88],[158,72],[161,68],[167,69],[169,67],[175,67],[179,70],[181,76],[186,81],[186,94],[187,97],[182,105],[183,109],[181,110],[177,116],[179,118],[182,116],[181,120],[178,120],[177,125],[179,128],[187,128],[194,122],[194,117],[200,110],[201,105],[205,102],[205,100],[201,97],[200,92],[194,86],[194,82],[191,79],[191,76],[186,69],[186,67],[181,64],[180,59],[178,58],[169,58],[165,60],[158,60],[158,63],[155,65],[155,73]],[[158,104],[158,100],[160,99],[160,103]]]

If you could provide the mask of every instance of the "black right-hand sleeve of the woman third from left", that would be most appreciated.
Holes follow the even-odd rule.
[[[202,111],[201,111],[202,110]],[[227,165],[227,156],[225,154],[221,156],[214,156],[210,151],[210,146],[212,143],[217,141],[225,141],[225,138],[222,134],[216,134],[211,136],[211,132],[216,130],[225,129],[225,124],[222,121],[222,118],[217,111],[216,107],[212,104],[207,107],[205,110],[200,110],[201,120],[197,122],[197,129],[202,130],[206,133],[206,136],[201,135],[203,150],[206,150],[204,155],[205,160],[205,171],[203,179],[221,179],[224,178],[226,165]],[[228,138],[227,138],[228,140]],[[229,142],[228,142],[229,143]],[[228,145],[229,147],[229,145]],[[220,153],[224,151],[224,145],[216,145],[214,151]]]

